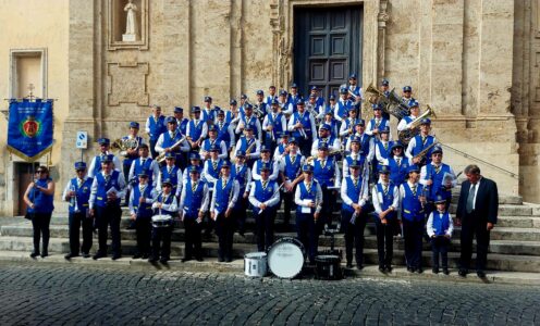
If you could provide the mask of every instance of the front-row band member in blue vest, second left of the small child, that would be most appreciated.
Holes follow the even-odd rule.
[[[390,180],[390,168],[386,165],[381,165],[379,168],[379,181],[371,190],[371,198],[376,213],[379,271],[381,273],[392,272],[394,226],[398,223],[400,188]]]

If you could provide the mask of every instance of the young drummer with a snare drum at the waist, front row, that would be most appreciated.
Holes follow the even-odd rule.
[[[161,183],[163,187],[163,192],[161,192],[152,204],[154,217],[152,217],[152,254],[148,259],[148,262],[156,263],[159,262],[165,264],[171,259],[171,234],[173,227],[173,216],[176,216],[177,204],[176,197],[172,193],[172,181],[165,179]],[[168,215],[170,218],[170,225],[161,226],[154,223],[156,215]],[[160,256],[161,248],[161,259]]]

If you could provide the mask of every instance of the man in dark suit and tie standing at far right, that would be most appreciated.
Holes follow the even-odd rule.
[[[457,203],[457,225],[462,226],[462,256],[459,258],[459,276],[468,273],[472,253],[472,237],[476,235],[477,258],[476,273],[486,277],[486,262],[490,231],[496,223],[499,211],[499,193],[496,184],[484,178],[477,165],[468,165],[464,170],[467,180],[462,184],[462,192]]]

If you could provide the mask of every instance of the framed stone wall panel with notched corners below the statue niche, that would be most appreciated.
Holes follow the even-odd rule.
[[[108,63],[107,70],[110,106],[118,106],[120,103],[136,103],[139,106],[149,104],[148,63]]]

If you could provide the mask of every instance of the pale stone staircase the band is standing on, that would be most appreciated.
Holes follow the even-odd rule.
[[[457,202],[455,197],[452,202]],[[451,212],[455,213],[455,204],[451,205]],[[256,238],[253,233],[255,221],[248,213],[247,233],[245,237],[234,235],[234,253],[238,259],[243,259],[245,253],[257,251]],[[334,220],[340,220],[340,213],[333,214]],[[0,217],[1,218],[1,217]],[[275,238],[295,237],[295,231],[284,230],[281,227],[283,210],[278,212],[275,225]],[[124,256],[133,254],[135,250],[135,230],[126,229],[130,220],[127,210],[123,210],[121,222],[122,252]],[[294,213],[291,221],[294,230]],[[459,256],[459,227],[455,227],[452,237],[452,244],[449,252],[449,264],[451,267],[457,266]],[[365,264],[376,265],[377,238],[375,236],[375,223],[369,222],[366,227],[365,242]],[[173,259],[184,254],[184,228],[182,223],[175,227],[172,235],[171,254]],[[216,235],[202,237],[202,248],[205,256],[218,255],[218,238]],[[403,240],[394,239],[394,261],[395,265],[404,265]],[[343,235],[335,238],[338,249],[344,251],[345,241]],[[328,249],[330,239],[321,236],[319,249]],[[91,251],[97,249],[97,236]],[[19,221],[2,225],[0,227],[0,251],[26,251],[33,250],[32,223],[20,218]],[[431,265],[431,250],[429,243],[424,244],[425,266]],[[51,239],[49,244],[51,253],[66,253],[69,251],[68,236],[68,214],[53,214],[51,218]],[[472,256],[475,258],[475,255]],[[472,261],[472,264],[475,262]],[[540,272],[540,205],[524,203],[520,197],[500,196],[499,223],[491,233],[491,242],[488,255],[488,269],[506,272]]]

